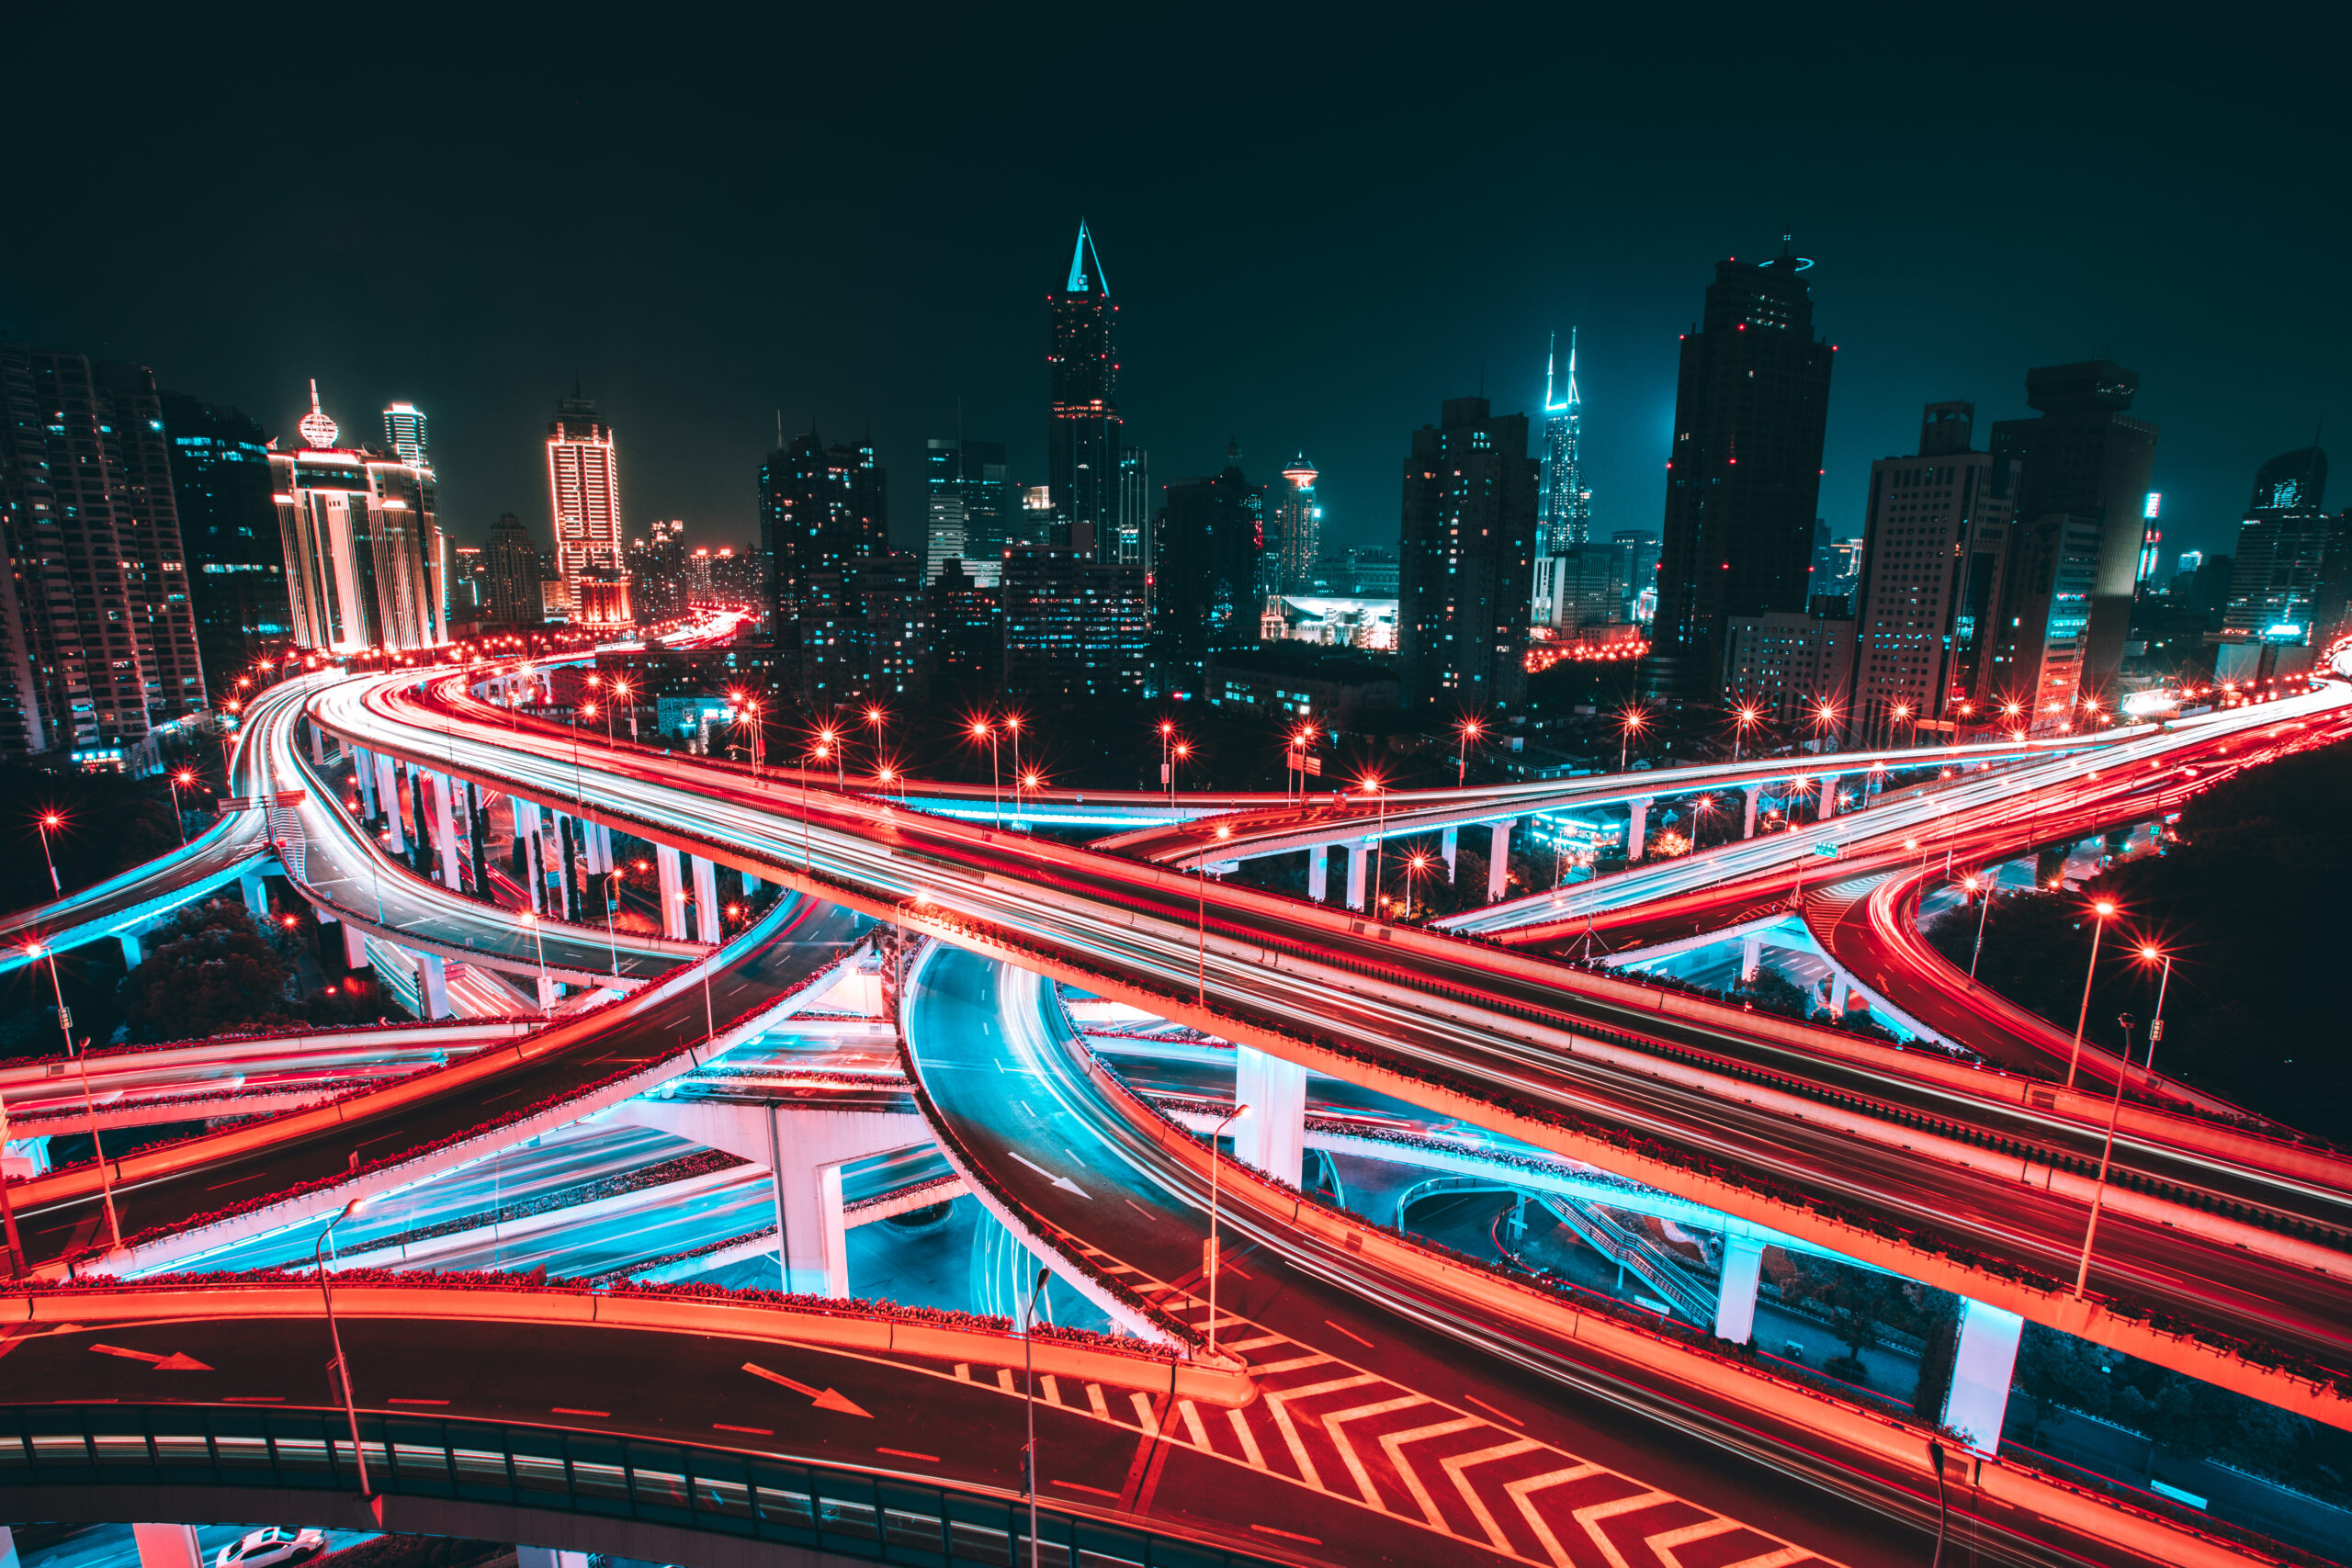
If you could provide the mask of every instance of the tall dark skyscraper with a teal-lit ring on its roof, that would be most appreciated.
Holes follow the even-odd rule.
[[[1729,616],[1799,614],[1813,567],[1835,350],[1813,336],[1804,256],[1717,261],[1682,339],[1658,616],[1642,684],[1705,701]]]

